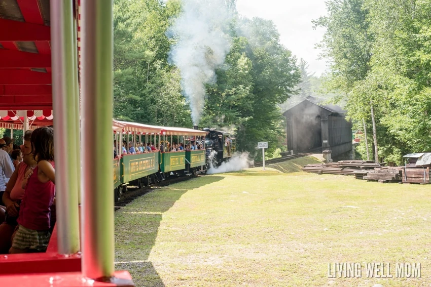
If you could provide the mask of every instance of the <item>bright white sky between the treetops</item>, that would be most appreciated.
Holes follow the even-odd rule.
[[[280,33],[281,44],[292,51],[298,60],[304,58],[308,71],[319,76],[326,70],[326,60],[317,60],[315,44],[322,39],[325,29],[313,29],[312,19],[326,15],[324,0],[237,0],[239,14],[272,20]]]

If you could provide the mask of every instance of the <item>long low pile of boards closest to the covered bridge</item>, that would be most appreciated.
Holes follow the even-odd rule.
[[[366,160],[341,160],[338,162],[307,165],[303,167],[302,170],[309,173],[354,175],[356,178],[362,178],[367,175],[367,170],[379,168],[382,167],[382,165],[384,165],[384,163],[381,164]]]

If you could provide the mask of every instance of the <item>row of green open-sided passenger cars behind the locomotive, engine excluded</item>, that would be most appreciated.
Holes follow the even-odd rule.
[[[140,143],[151,143],[157,150],[146,153],[132,154],[125,147],[126,153],[118,153],[113,160],[114,168],[114,199],[118,201],[120,196],[127,191],[127,186],[147,186],[166,179],[171,175],[190,175],[200,167],[205,166],[205,150],[192,151],[168,151],[163,144],[187,142],[192,139],[204,138],[204,131],[187,128],[173,128],[143,125],[135,122],[116,121],[113,125],[115,133],[115,149],[122,150],[122,143],[132,142],[133,146]],[[161,148],[162,147],[162,148]],[[144,146],[145,148],[145,146]]]

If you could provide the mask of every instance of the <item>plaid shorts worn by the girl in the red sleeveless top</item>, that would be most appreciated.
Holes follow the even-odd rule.
[[[51,234],[48,230],[38,231],[18,226],[18,230],[12,241],[12,247],[16,249],[46,251]]]

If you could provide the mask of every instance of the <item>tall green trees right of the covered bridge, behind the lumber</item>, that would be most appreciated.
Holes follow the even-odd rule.
[[[372,135],[372,103],[381,159],[431,150],[431,0],[329,0],[327,8],[314,22],[327,27],[326,87],[345,96],[356,129],[365,118]]]

